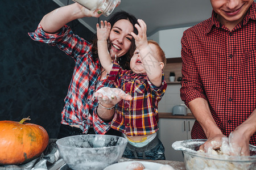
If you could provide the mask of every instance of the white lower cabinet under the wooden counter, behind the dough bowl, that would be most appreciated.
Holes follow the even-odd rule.
[[[195,119],[183,118],[160,118],[159,139],[163,143],[166,155],[166,160],[176,160],[183,162],[181,151],[176,151],[172,148],[172,143],[176,141],[184,141],[191,139],[191,129]]]

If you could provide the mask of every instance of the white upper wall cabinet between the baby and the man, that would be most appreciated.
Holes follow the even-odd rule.
[[[181,37],[187,28],[189,27],[160,30],[148,39],[159,43],[164,53],[166,53],[166,58],[181,57]]]

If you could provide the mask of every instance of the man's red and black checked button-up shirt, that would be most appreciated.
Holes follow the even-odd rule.
[[[256,108],[256,8],[255,2],[241,23],[229,31],[212,18],[184,32],[181,99],[202,97],[222,133],[242,124]],[[256,123],[256,122],[255,122]],[[206,138],[199,122],[191,131],[193,139]],[[256,145],[256,133],[250,143]]]

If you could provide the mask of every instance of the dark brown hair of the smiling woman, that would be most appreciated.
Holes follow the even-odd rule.
[[[113,25],[121,19],[127,19],[129,20],[129,22],[131,24],[133,24],[133,32],[135,34],[138,34],[137,28],[135,28],[135,24],[138,24],[137,22],[137,18],[135,18],[135,16],[125,12],[125,11],[119,11],[119,12],[115,12],[111,18],[108,20],[108,22],[111,24],[111,28],[113,28]],[[109,44],[110,45],[110,44]],[[135,41],[134,38],[131,40],[131,47],[128,50],[128,52],[117,58],[117,61],[119,63],[119,65],[122,67],[122,69],[125,70],[130,70],[130,59],[133,56],[135,50]],[[98,46],[97,46],[97,36],[94,37],[93,41],[92,41],[92,54],[93,57],[98,58]]]

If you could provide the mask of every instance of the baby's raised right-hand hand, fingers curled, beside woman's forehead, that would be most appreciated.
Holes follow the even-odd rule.
[[[138,29],[138,35],[134,32],[131,32],[131,35],[134,37],[136,47],[139,50],[142,50],[147,47],[147,25],[142,19],[138,19],[138,24],[135,24],[135,27]]]

